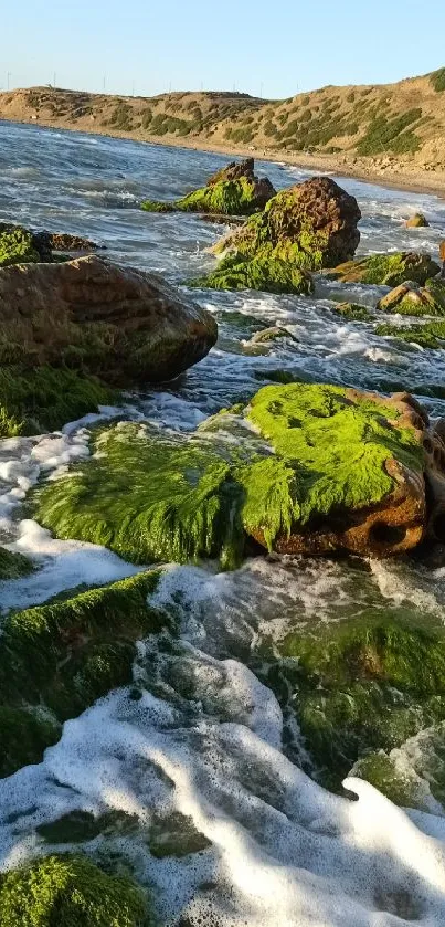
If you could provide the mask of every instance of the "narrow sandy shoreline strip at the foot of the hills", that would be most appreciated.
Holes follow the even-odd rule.
[[[430,176],[430,171],[421,171],[418,168],[411,171],[398,172],[396,170],[388,170],[382,168],[380,170],[372,170],[368,167],[365,159],[359,159],[356,156],[348,158],[346,155],[309,155],[309,154],[289,154],[285,151],[276,151],[275,149],[259,149],[255,146],[242,146],[212,143],[206,139],[187,139],[170,137],[168,139],[162,136],[162,141],[159,136],[148,136],[139,131],[126,133],[119,129],[109,130],[109,127],[102,128],[100,126],[91,127],[89,125],[65,125],[54,119],[4,119],[0,117],[1,123],[10,125],[27,125],[36,126],[40,128],[56,129],[59,131],[78,133],[80,135],[96,135],[106,138],[119,138],[128,141],[138,141],[145,145],[157,145],[161,148],[184,148],[192,151],[206,151],[209,154],[226,155],[231,157],[253,157],[256,161],[271,161],[273,164],[287,165],[300,170],[309,170],[311,172],[320,171],[333,178],[345,178],[351,180],[359,180],[363,183],[370,183],[378,187],[388,187],[390,190],[403,190],[411,193],[420,193],[426,196],[435,196],[438,199],[445,199],[445,170],[435,172],[434,178]],[[359,164],[357,164],[359,161]],[[401,166],[398,168],[401,169]],[[412,173],[412,177],[410,176]],[[426,177],[426,175],[428,175]]]

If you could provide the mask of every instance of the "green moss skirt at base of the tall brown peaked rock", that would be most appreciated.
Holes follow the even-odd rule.
[[[305,295],[314,291],[309,274],[295,264],[275,257],[248,261],[237,254],[224,257],[215,271],[188,285],[209,289],[258,289],[264,293]]]

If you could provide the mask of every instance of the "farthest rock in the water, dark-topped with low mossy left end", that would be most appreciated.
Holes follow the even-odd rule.
[[[205,187],[173,202],[145,200],[147,212],[203,212],[218,215],[250,215],[264,209],[276,190],[267,177],[254,173],[254,159],[233,161],[213,175]]]

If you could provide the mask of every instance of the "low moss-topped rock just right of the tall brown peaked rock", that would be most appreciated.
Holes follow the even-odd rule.
[[[428,277],[434,277],[438,272],[438,264],[428,254],[400,251],[347,261],[333,270],[325,271],[325,276],[340,283],[399,286],[405,281],[414,281],[423,286]]]

